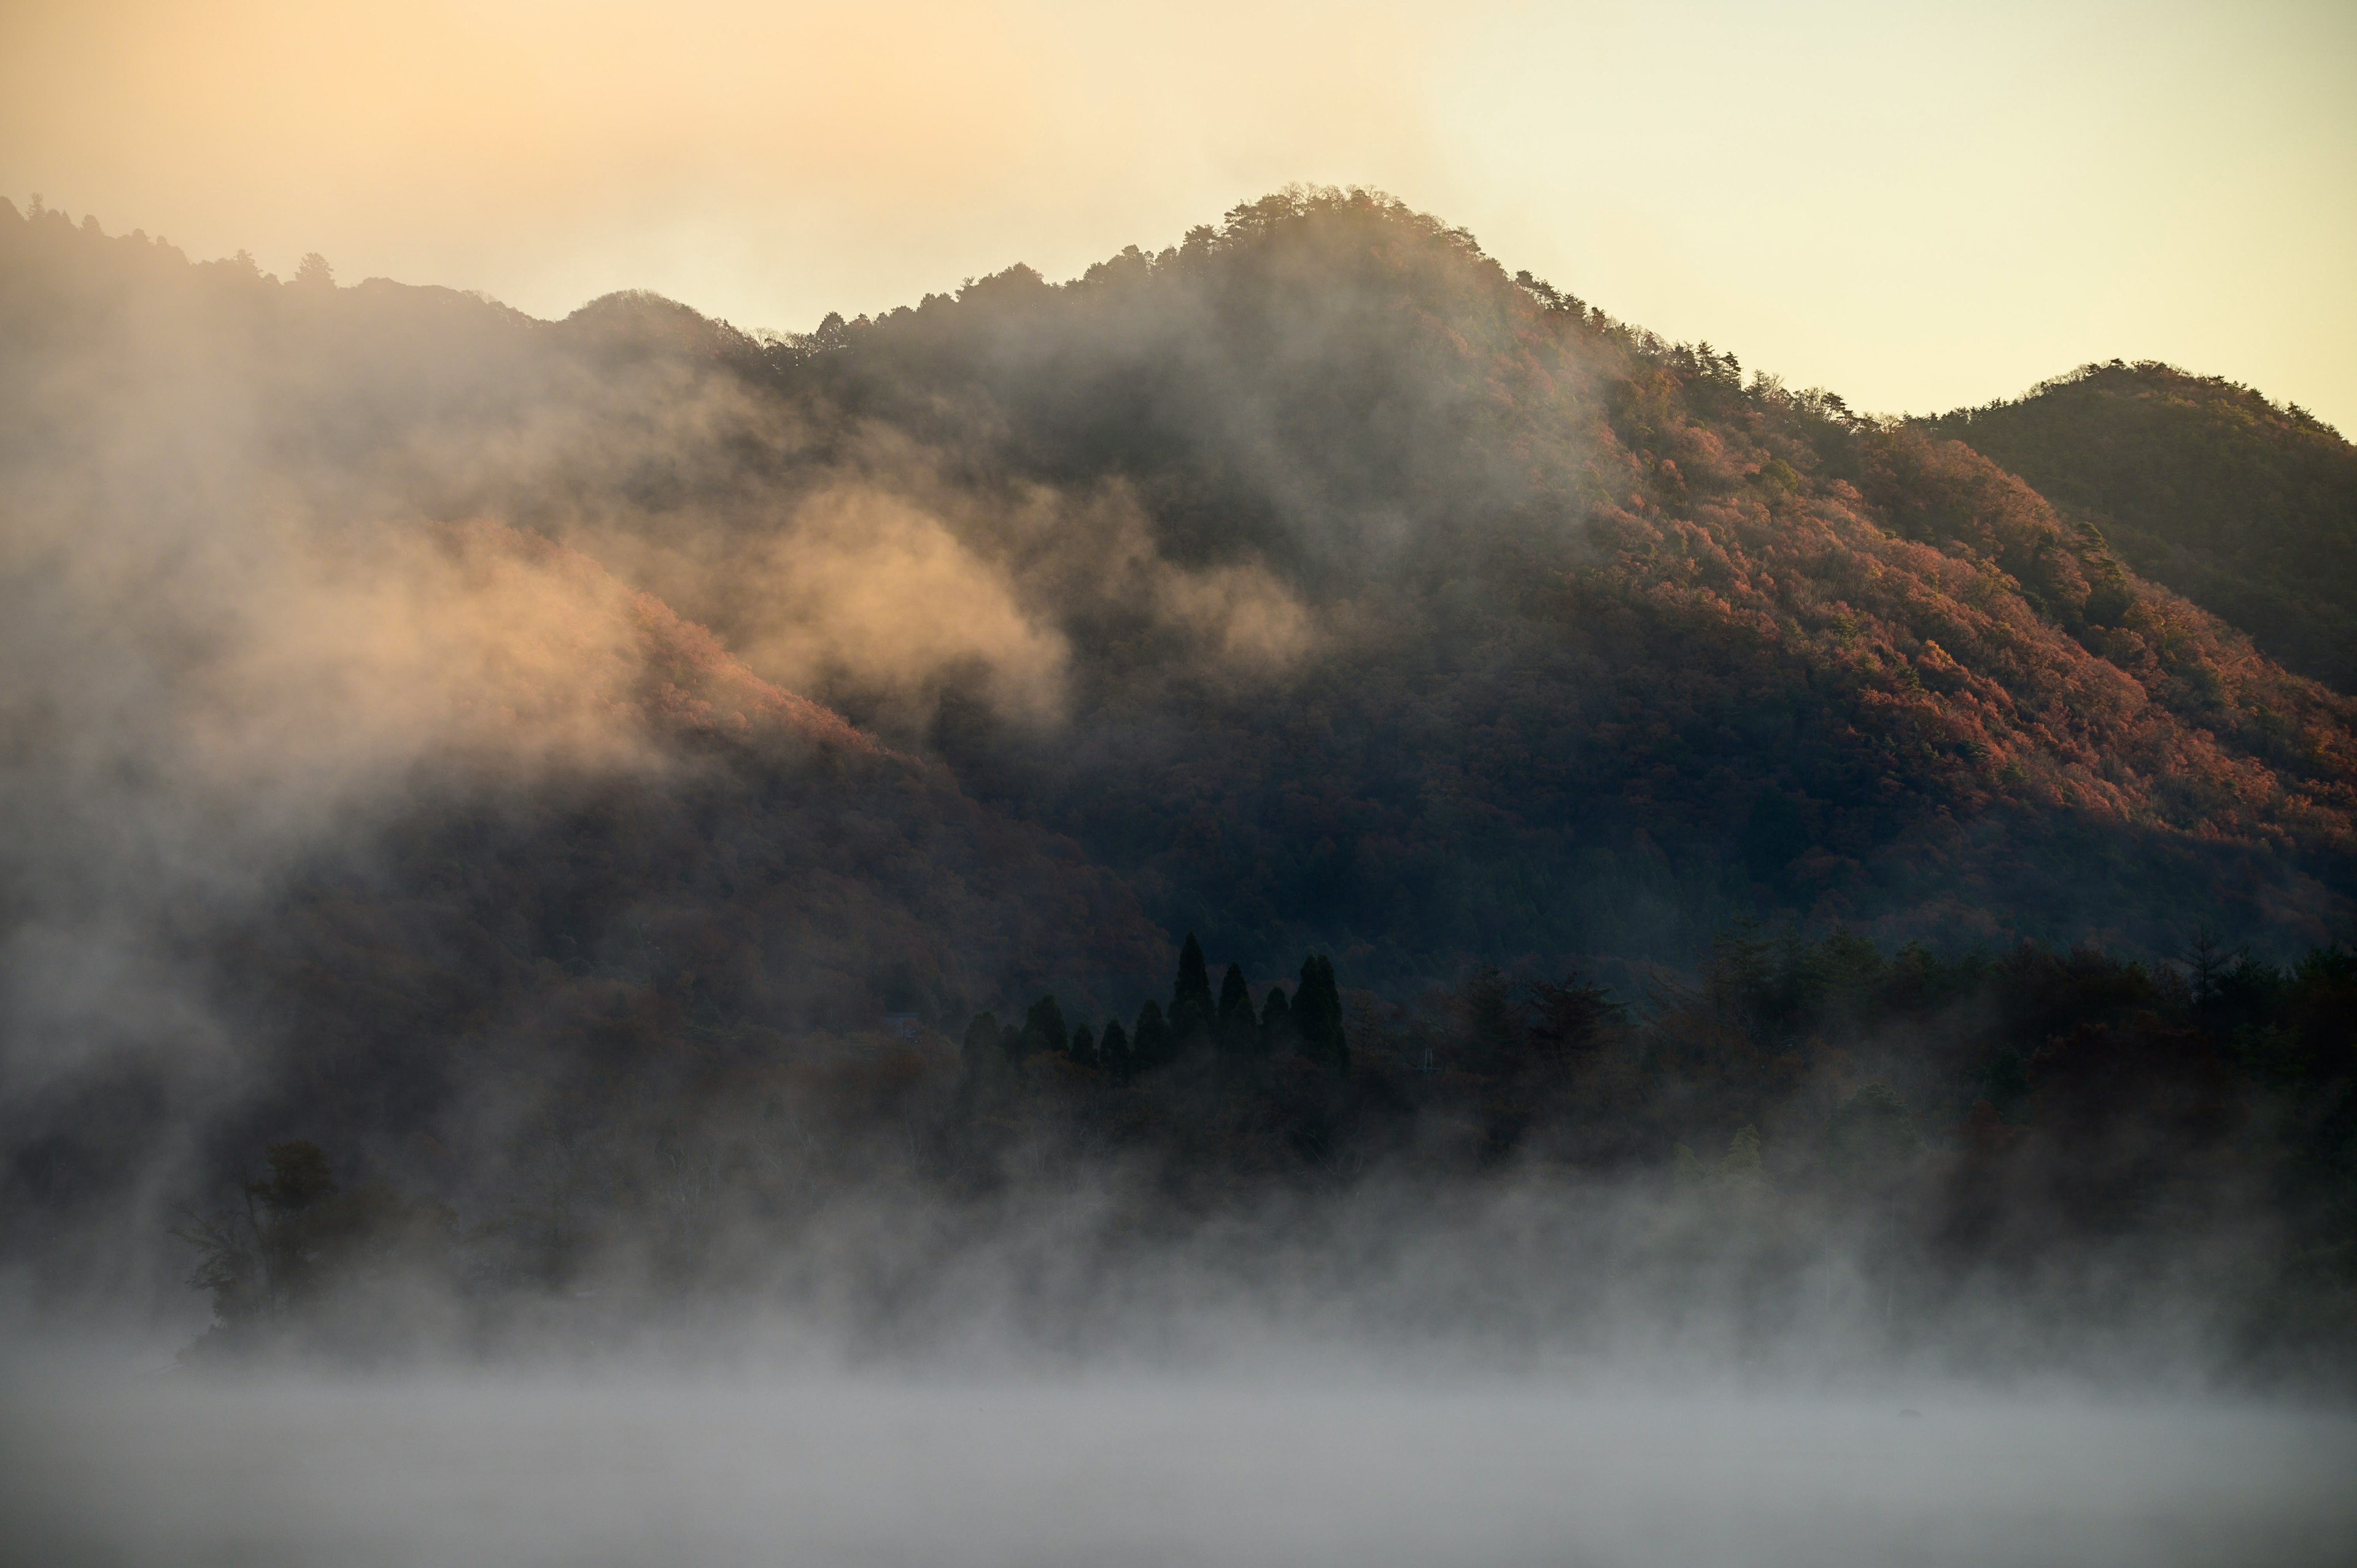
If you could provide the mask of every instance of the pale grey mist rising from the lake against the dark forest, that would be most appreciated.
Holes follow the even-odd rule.
[[[1914,1276],[1893,1297],[1841,1226],[1789,1257],[1739,1195],[1374,1181],[1174,1231],[1150,1172],[1056,1186],[1039,1170],[957,1210],[863,1179],[783,1226],[724,1217],[705,1236],[752,1273],[700,1297],[665,1294],[651,1228],[509,1332],[372,1370],[134,1379],[170,1346],[14,1339],[42,1356],[0,1361],[21,1450],[0,1509],[61,1563],[233,1542],[396,1563],[1982,1568],[2357,1544],[2357,1422],[2329,1398],[2206,1386],[2183,1320],[2027,1313]],[[700,1193],[724,1188],[681,1181],[662,1207]],[[2152,1287],[2121,1276],[2110,1306]]]

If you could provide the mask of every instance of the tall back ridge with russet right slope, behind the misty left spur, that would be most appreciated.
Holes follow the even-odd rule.
[[[563,540],[1221,950],[1452,974],[1747,913],[2168,950],[2190,887],[2263,941],[2348,915],[2345,698],[1968,448],[1386,198],[783,340],[9,236],[24,363],[115,311],[233,384],[276,490]]]

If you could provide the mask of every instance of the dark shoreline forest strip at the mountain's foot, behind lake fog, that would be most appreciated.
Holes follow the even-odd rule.
[[[2357,1306],[2350,1019],[2350,953],[2279,967],[2206,936],[2183,964],[2147,967],[1739,927],[1695,983],[1657,976],[1638,1007],[1577,974],[1494,967],[1381,1002],[1341,990],[1322,955],[1261,986],[1230,962],[1214,993],[1190,936],[1169,1004],[1148,997],[1134,1026],[1068,1019],[1042,995],[1021,1019],[976,1014],[955,1049],[886,1037],[823,1073],[636,1066],[596,1120],[519,1141],[502,1198],[471,1214],[384,1181],[344,1191],[318,1144],[271,1144],[238,1203],[184,1210],[174,1228],[217,1313],[189,1353],[384,1356],[424,1332],[511,1344],[582,1330],[563,1313],[519,1327],[519,1302],[660,1316],[811,1294],[886,1351],[945,1311],[938,1292],[971,1287],[976,1254],[1044,1247],[1054,1269],[1110,1276],[1167,1252],[1237,1269],[1233,1228],[1247,1247],[1339,1252],[1332,1214],[1369,1193],[1471,1228],[1450,1261],[1511,1302],[1452,1306],[1475,1332],[1527,1335],[1525,1313],[1544,1332],[1596,1327],[1579,1283],[1497,1278],[1516,1238],[1464,1205],[1520,1191],[1648,1316],[1728,1313],[1763,1356],[1838,1252],[1853,1297],[1909,1302],[1888,1351],[1949,1339],[1959,1302],[1999,1292],[2053,1313],[2041,1349],[2001,1363],[2034,1368],[2192,1283],[2225,1375],[2312,1379],[2338,1365]],[[846,1212],[874,1224],[879,1193],[893,1224],[950,1214],[952,1231],[844,1269],[834,1228]],[[1009,1236],[1056,1200],[1082,1217],[1047,1240]],[[1386,1250],[1417,1243],[1431,1238],[1414,1219],[1348,1238],[1346,1283],[1386,1280]],[[832,1264],[823,1280],[801,1276],[811,1254]],[[1742,1290],[1709,1297],[1711,1266]],[[1054,1287],[1023,1294],[1030,1327],[1070,1346],[1155,1318],[1091,1327]]]

